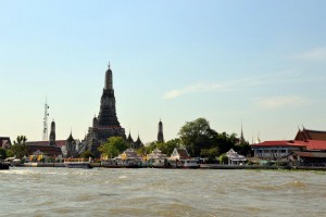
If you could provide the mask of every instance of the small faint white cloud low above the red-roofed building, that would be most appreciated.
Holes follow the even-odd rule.
[[[260,99],[256,105],[264,108],[279,108],[285,106],[294,106],[305,104],[306,100],[299,95],[281,95],[267,99]]]

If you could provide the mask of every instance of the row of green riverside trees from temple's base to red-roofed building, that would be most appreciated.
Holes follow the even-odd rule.
[[[216,159],[216,157],[225,154],[230,149],[244,156],[251,156],[252,154],[250,144],[247,141],[239,140],[236,133],[218,133],[210,127],[210,123],[205,118],[186,123],[180,128],[178,136],[178,138],[166,142],[151,142],[137,149],[136,152],[145,155],[159,149],[162,153],[170,156],[175,148],[185,146],[190,156],[210,159]],[[108,142],[99,148],[99,151],[102,153],[102,156],[112,158],[128,146],[130,145],[123,138],[111,137]]]

